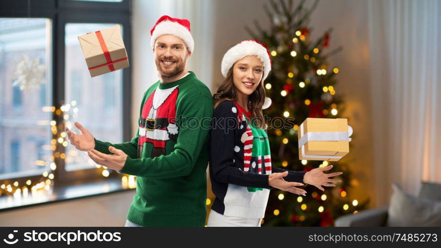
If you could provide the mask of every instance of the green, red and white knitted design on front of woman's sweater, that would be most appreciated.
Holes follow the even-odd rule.
[[[254,127],[251,124],[250,116],[245,114],[245,110],[240,106],[238,106],[238,108],[240,127],[241,129],[246,128],[246,131],[241,137],[241,141],[244,143],[244,172],[270,175],[271,155],[269,151],[268,135],[264,129]],[[235,151],[238,152],[236,148]],[[250,192],[262,190],[262,188],[256,187],[247,187],[247,189]]]

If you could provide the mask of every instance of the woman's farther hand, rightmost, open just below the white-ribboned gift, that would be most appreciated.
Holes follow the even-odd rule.
[[[330,169],[332,169],[332,165],[321,168],[315,168],[305,173],[303,182],[305,184],[314,185],[322,191],[324,191],[324,188],[322,186],[335,186],[333,183],[340,183],[341,180],[331,179],[331,177],[341,175],[343,174],[343,172],[334,172],[329,174],[323,173],[324,171],[329,171]]]

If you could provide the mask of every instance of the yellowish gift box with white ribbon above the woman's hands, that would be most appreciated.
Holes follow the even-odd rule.
[[[299,159],[338,161],[349,153],[352,127],[347,119],[307,118],[297,132]]]

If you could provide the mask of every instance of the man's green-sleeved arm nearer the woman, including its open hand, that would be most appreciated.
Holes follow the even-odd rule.
[[[99,165],[107,166],[119,173],[144,178],[175,178],[189,175],[199,153],[208,140],[213,102],[205,96],[189,99],[191,106],[184,108],[175,150],[155,158],[132,159],[123,151],[109,147],[113,155],[92,149],[89,156]]]

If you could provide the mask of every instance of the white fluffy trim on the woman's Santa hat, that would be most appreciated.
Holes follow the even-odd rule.
[[[255,41],[243,41],[236,46],[230,48],[224,55],[221,63],[221,71],[224,77],[227,77],[228,70],[235,62],[246,57],[255,55],[263,63],[263,77],[265,80],[271,70],[271,59],[269,58],[266,48]]]

